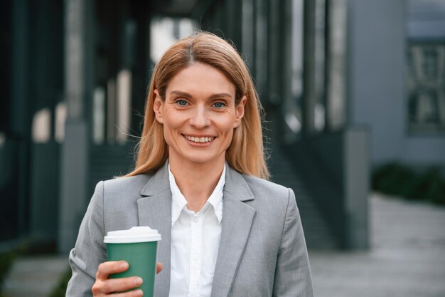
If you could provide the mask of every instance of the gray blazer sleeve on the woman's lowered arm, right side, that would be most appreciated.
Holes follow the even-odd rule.
[[[289,189],[272,296],[313,297],[306,241],[295,195],[291,189]]]

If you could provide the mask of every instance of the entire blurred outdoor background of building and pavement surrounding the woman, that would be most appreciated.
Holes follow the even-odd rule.
[[[4,296],[28,288],[26,272],[42,276],[33,296],[57,286],[95,184],[134,165],[156,61],[198,29],[232,41],[250,68],[317,296],[445,296],[445,1],[1,7]]]

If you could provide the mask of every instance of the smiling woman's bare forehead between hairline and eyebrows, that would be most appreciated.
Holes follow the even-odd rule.
[[[213,66],[193,63],[176,73],[167,85],[166,93],[180,90],[187,93],[230,93],[235,98],[235,84]]]

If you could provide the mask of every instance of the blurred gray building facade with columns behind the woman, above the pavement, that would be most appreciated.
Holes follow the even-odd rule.
[[[247,61],[267,112],[268,146],[299,173],[336,246],[368,248],[370,168],[445,164],[443,43],[409,36],[407,6],[6,1],[1,243],[73,247],[96,182],[132,168],[160,46],[200,28],[230,39]]]

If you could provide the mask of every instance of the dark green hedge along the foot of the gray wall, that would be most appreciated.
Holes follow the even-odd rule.
[[[382,165],[372,172],[372,189],[445,205],[445,179],[437,167],[419,174],[396,162]]]

